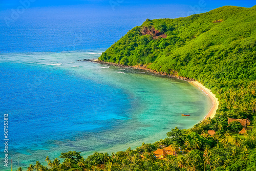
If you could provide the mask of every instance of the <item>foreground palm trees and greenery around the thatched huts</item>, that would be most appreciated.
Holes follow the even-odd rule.
[[[211,137],[206,130],[216,123],[226,123],[226,118],[207,119],[189,130],[176,127],[164,140],[143,143],[134,150],[128,148],[116,154],[95,152],[84,159],[78,152],[61,153],[62,163],[59,158],[50,160],[47,157],[47,166],[37,161],[27,170],[256,170],[256,129],[248,131],[244,137],[230,132],[227,127],[219,127]],[[165,160],[156,159],[152,152],[167,145],[172,145],[176,155],[168,155]]]

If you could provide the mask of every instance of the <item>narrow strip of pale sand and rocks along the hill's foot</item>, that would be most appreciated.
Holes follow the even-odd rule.
[[[197,80],[193,79],[193,78],[188,78],[188,77],[182,77],[182,76],[178,76],[178,75],[170,75],[170,74],[166,74],[163,72],[157,72],[151,69],[146,68],[146,66],[125,66],[119,63],[112,63],[112,62],[105,62],[102,60],[94,60],[94,59],[89,59],[87,61],[92,61],[92,62],[96,62],[96,63],[100,63],[100,64],[105,64],[105,65],[110,65],[110,66],[116,66],[116,67],[120,67],[120,68],[133,68],[133,69],[138,69],[138,70],[144,70],[150,73],[154,73],[156,75],[164,75],[170,78],[177,78],[183,81],[187,81],[191,84],[193,84],[194,86],[198,87],[199,89],[201,89],[206,95],[209,96],[209,98],[211,99],[211,109],[208,112],[208,114],[204,117],[204,119],[207,119],[208,117],[210,117],[210,119],[214,118],[216,111],[218,109],[219,106],[219,100],[218,98],[216,98],[216,95],[213,94],[210,89],[207,89],[206,87],[203,86],[203,84],[201,84],[200,82],[198,82]]]

